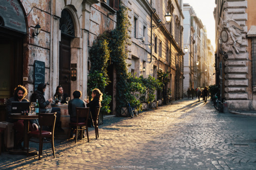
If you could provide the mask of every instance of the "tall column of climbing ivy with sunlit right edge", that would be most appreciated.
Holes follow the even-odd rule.
[[[127,79],[129,78],[126,59],[127,52],[125,47],[129,42],[128,29],[130,21],[128,19],[127,8],[119,4],[119,11],[117,12],[117,26],[111,32],[110,48],[111,61],[116,66],[116,111],[120,113],[121,107],[125,107],[129,101],[129,88]]]

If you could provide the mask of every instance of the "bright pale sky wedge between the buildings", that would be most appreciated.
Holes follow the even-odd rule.
[[[206,26],[207,38],[210,39],[215,49],[215,19],[213,13],[216,7],[215,0],[183,0],[183,3],[188,3],[193,7],[197,17]]]

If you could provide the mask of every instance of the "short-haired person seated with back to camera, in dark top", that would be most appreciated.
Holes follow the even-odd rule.
[[[68,109],[70,115],[70,122],[76,123],[76,107],[86,107],[84,102],[80,99],[82,93],[79,90],[73,92],[74,99],[69,101]],[[79,119],[79,122],[84,122],[84,119]]]

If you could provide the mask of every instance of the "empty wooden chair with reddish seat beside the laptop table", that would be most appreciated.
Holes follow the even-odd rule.
[[[53,157],[55,158],[54,152],[54,127],[55,127],[55,120],[56,120],[56,112],[55,113],[39,113],[38,114],[38,123],[39,123],[39,130],[38,131],[31,131],[28,133],[29,141],[39,143],[39,153],[38,153],[38,160],[40,160],[40,155],[42,154],[42,144],[49,143],[52,144],[52,152]],[[51,131],[44,131],[44,127],[51,127]],[[39,138],[39,141],[30,140],[31,137]],[[50,139],[46,139],[50,138]],[[29,147],[27,149],[27,155],[29,154]]]

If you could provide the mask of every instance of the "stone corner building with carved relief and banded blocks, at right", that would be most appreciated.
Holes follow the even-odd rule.
[[[255,1],[217,1],[216,81],[233,110],[255,110]]]

